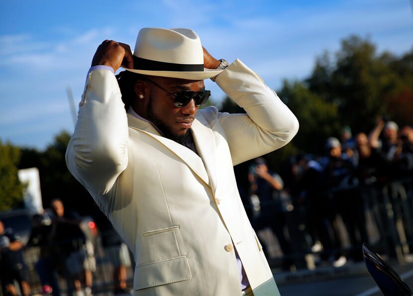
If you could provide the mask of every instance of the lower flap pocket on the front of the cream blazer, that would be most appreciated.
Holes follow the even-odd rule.
[[[135,268],[134,290],[191,279],[187,256],[141,264]]]

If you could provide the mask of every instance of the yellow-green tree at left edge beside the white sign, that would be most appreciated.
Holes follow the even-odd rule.
[[[20,150],[0,141],[0,211],[20,206],[23,201],[23,185],[17,177]]]

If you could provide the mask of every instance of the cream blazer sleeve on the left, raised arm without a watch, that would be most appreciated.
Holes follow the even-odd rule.
[[[90,72],[66,164],[92,196],[110,191],[126,169],[127,139],[127,116],[115,76],[108,70]]]

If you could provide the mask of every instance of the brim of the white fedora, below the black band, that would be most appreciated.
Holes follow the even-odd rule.
[[[161,77],[169,77],[169,78],[181,78],[181,79],[188,79],[188,80],[204,80],[207,78],[214,77],[222,72],[222,70],[216,69],[207,69],[204,68],[204,71],[198,72],[180,72],[180,71],[150,71],[150,70],[138,70],[138,69],[128,69],[122,67],[123,69],[143,74],[143,75],[150,75],[150,76],[161,76]]]

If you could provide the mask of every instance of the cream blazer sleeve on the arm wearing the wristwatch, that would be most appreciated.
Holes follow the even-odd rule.
[[[215,82],[247,112],[216,115],[233,165],[279,149],[297,134],[299,122],[293,112],[240,60],[222,71]]]

